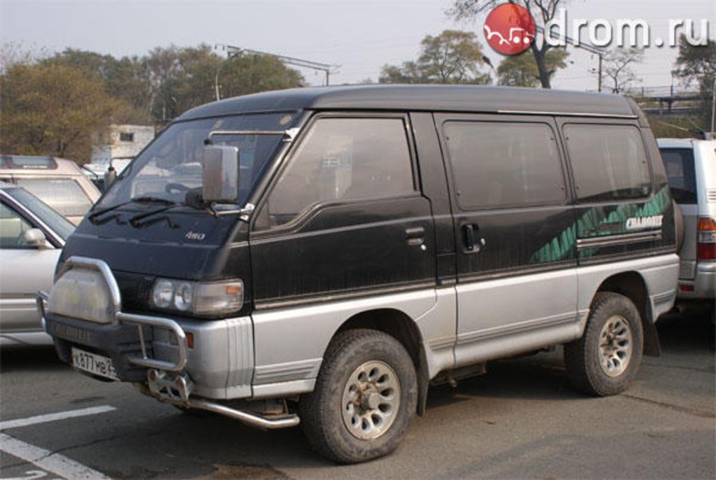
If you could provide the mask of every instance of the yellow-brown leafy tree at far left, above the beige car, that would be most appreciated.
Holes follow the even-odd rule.
[[[13,64],[0,76],[0,150],[89,161],[91,132],[106,128],[122,102],[102,81],[63,64]]]

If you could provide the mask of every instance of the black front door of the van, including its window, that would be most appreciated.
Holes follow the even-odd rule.
[[[405,115],[314,118],[259,203],[257,308],[435,285],[430,201]]]

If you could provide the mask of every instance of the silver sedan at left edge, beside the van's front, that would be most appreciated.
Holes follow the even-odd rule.
[[[0,333],[42,332],[37,291],[52,287],[59,253],[73,230],[32,193],[0,182]]]

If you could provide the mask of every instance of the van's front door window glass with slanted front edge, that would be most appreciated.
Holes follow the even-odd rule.
[[[276,226],[317,203],[414,191],[402,119],[322,118],[299,145],[264,209]]]

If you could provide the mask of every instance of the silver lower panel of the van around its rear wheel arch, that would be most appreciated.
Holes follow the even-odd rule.
[[[594,292],[607,278],[621,272],[637,272],[644,279],[649,295],[652,321],[668,312],[674,304],[679,274],[679,256],[668,254],[651,256],[645,259],[616,261],[609,264],[580,267],[579,309],[589,309]]]

